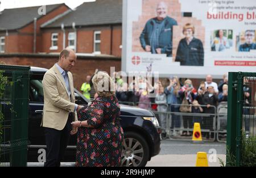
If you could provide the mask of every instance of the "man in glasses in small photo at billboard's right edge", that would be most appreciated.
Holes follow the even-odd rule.
[[[256,44],[253,43],[255,39],[254,30],[246,30],[245,31],[245,43],[239,46],[240,52],[249,52],[251,49],[256,49]]]

